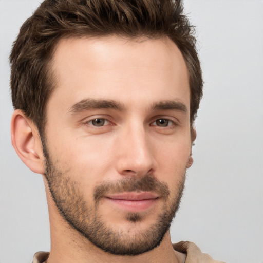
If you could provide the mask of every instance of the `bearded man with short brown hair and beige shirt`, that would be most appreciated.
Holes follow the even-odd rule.
[[[12,144],[43,175],[33,262],[218,262],[172,245],[202,97],[180,1],[46,0],[11,55]]]

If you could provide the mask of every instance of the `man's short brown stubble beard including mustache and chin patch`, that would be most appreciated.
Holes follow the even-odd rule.
[[[45,145],[43,149],[49,191],[60,215],[73,229],[96,247],[115,255],[139,255],[160,245],[179,209],[184,190],[185,171],[183,176],[180,175],[182,180],[177,185],[177,193],[173,198],[166,183],[145,175],[139,179],[102,182],[93,191],[92,205],[84,199],[80,183],[72,180],[70,171],[55,166],[49,158]],[[107,218],[102,218],[98,214],[100,201],[109,191],[111,193],[153,191],[161,196],[164,204],[156,222],[143,230],[136,231],[136,224],[143,221],[143,214],[127,213],[125,220],[133,225],[133,232],[136,233],[130,234],[128,231],[118,230],[118,226],[112,228],[107,223]]]

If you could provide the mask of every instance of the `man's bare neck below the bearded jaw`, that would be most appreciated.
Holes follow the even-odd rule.
[[[184,254],[173,249],[169,232],[165,234],[160,246],[136,256],[106,253],[90,243],[85,237],[74,233],[76,230],[68,229],[66,232],[61,233],[57,228],[56,233],[51,235],[51,250],[47,263],[182,263],[185,259]]]

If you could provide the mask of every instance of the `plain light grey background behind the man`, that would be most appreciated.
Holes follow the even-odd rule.
[[[197,25],[204,97],[172,241],[227,262],[263,262],[263,1],[185,0]],[[14,152],[8,55],[38,0],[0,0],[0,262],[49,250],[42,177]]]

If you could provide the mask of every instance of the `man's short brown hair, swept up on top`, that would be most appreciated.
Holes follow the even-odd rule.
[[[180,0],[45,0],[22,25],[10,54],[13,107],[44,132],[46,103],[54,89],[50,61],[58,41],[110,34],[168,36],[178,46],[189,71],[193,123],[203,81],[194,27]]]

